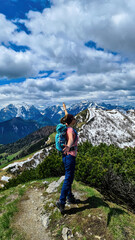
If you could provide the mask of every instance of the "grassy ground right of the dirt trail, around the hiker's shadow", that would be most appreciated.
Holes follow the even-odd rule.
[[[53,202],[58,199],[60,189],[61,187],[58,189],[59,194],[52,194]],[[84,201],[78,206],[66,207],[64,217],[59,211],[51,215],[50,230],[55,234],[56,240],[62,240],[61,232],[64,226],[72,229],[74,237],[76,232],[81,234],[80,240],[94,240],[96,235],[103,235],[106,240],[133,240],[135,238],[134,214],[121,206],[105,201],[97,190],[76,181],[73,183],[73,192],[75,191],[83,194]],[[45,206],[45,209],[49,209],[49,204]]]

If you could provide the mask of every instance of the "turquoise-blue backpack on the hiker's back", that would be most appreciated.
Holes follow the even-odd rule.
[[[55,146],[56,149],[59,152],[62,152],[63,148],[64,148],[64,144],[67,144],[67,126],[65,124],[59,123],[56,127],[56,136],[55,136]],[[75,132],[75,140],[77,139],[77,132],[74,130]]]

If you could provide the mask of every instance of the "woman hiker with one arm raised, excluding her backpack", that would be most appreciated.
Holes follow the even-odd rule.
[[[61,213],[64,211],[65,203],[77,203],[72,193],[72,183],[74,179],[75,171],[75,159],[77,155],[77,142],[78,136],[77,132],[72,128],[76,123],[76,119],[72,114],[68,114],[66,110],[66,105],[63,103],[63,108],[65,111],[65,116],[60,120],[62,124],[67,126],[67,145],[64,145],[62,160],[65,167],[65,180],[61,189],[61,195],[59,201],[56,202],[56,206],[59,208]]]

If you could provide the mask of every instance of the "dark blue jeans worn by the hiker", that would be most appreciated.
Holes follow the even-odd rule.
[[[64,155],[62,156],[62,160],[65,167],[65,180],[61,189],[60,202],[62,204],[66,203],[66,198],[72,197],[71,185],[74,180],[74,172],[75,172],[75,158],[72,155]]]

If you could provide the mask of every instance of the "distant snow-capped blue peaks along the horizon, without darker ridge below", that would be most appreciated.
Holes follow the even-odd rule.
[[[67,106],[67,110],[69,113],[76,115],[79,112],[87,109],[89,106],[95,107],[96,109],[102,108],[104,110],[117,109],[123,112],[133,109],[132,106],[111,105],[106,103],[97,104],[86,100]],[[18,106],[9,104],[0,110],[0,122],[11,120],[15,117],[20,117],[24,120],[34,120],[40,124],[41,127],[58,124],[62,116],[64,116],[64,111],[63,107],[60,105],[49,106],[44,110],[40,110],[37,109],[34,105],[29,106],[27,104],[24,104],[22,106]]]

